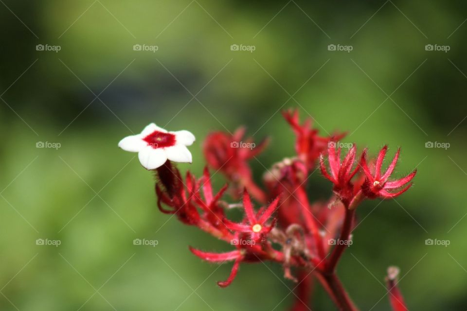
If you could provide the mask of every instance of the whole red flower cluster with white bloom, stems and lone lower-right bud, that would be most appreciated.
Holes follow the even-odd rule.
[[[249,161],[264,150],[268,139],[256,145],[251,138],[244,139],[244,128],[234,134],[208,135],[203,143],[208,165],[199,178],[189,171],[182,178],[174,163],[191,163],[186,146],[195,137],[188,131],[168,132],[152,123],[141,134],[122,139],[119,146],[138,152],[141,164],[155,172],[157,205],[163,213],[232,245],[233,250],[223,253],[189,247],[203,260],[234,262],[230,276],[219,286],[230,285],[243,263],[269,260],[283,266],[286,278],[299,282],[292,310],[308,310],[314,278],[340,310],[358,310],[336,275],[336,266],[352,242],[356,208],[366,199],[389,199],[407,191],[416,171],[394,179],[400,150],[383,170],[387,146],[375,159],[367,149],[358,155],[355,144],[345,153],[340,143],[345,134],[319,136],[311,120],[300,123],[296,110],[283,116],[296,136],[295,155],[267,170],[264,187],[254,181]],[[333,195],[312,203],[307,180],[317,165],[332,183]],[[209,167],[227,180],[217,191]],[[232,220],[234,208],[242,209],[243,219]],[[390,268],[387,282],[393,310],[399,311],[406,305],[396,287],[396,271]]]

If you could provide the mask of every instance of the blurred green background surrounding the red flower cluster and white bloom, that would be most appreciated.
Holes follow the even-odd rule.
[[[0,2],[2,311],[287,310],[294,284],[275,264],[243,265],[218,288],[231,265],[201,262],[188,245],[231,246],[159,213],[153,176],[117,143],[152,121],[188,129],[194,161],[180,169],[199,174],[207,133],[244,124],[272,139],[251,163],[260,180],[293,155],[288,107],[323,134],[348,131],[360,150],[401,146],[397,173],[418,169],[405,195],[359,207],[338,272],[361,310],[390,310],[389,265],[409,309],[466,310],[463,1]],[[319,173],[309,180],[310,197],[329,196]],[[335,307],[317,286],[310,309]]]

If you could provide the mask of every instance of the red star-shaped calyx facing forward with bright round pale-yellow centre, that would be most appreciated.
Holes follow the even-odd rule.
[[[275,225],[275,220],[272,221],[271,225],[266,225],[266,222],[272,213],[276,210],[279,199],[280,196],[277,196],[277,198],[272,201],[271,204],[269,204],[269,207],[267,207],[263,213],[261,213],[262,211],[259,210],[255,214],[253,205],[251,204],[250,195],[245,189],[243,191],[243,207],[245,209],[248,223],[237,224],[229,221],[228,219],[224,219],[224,224],[227,226],[227,228],[233,231],[249,233],[251,240],[258,242],[265,234],[268,234]]]

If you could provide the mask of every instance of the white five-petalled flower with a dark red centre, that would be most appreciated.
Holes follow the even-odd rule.
[[[120,140],[118,146],[129,152],[137,152],[141,164],[147,170],[154,170],[167,159],[191,163],[191,153],[186,146],[190,146],[194,141],[195,136],[189,131],[167,132],[151,123],[141,134]]]

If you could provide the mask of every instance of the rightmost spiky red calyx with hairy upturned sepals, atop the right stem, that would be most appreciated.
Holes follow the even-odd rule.
[[[388,181],[388,178],[394,172],[395,165],[397,164],[397,159],[399,158],[400,148],[397,149],[397,152],[395,153],[394,158],[391,164],[389,164],[386,172],[384,174],[381,174],[381,166],[383,165],[383,160],[384,160],[384,157],[387,151],[388,151],[388,146],[384,146],[381,149],[381,151],[379,151],[376,164],[375,164],[374,174],[372,174],[370,169],[368,168],[367,159],[366,159],[367,150],[365,149],[363,151],[363,154],[361,155],[360,166],[363,170],[363,173],[366,176],[365,182],[363,183],[363,186],[362,186],[362,191],[368,198],[372,198],[372,199],[376,197],[382,197],[385,199],[394,198],[404,193],[405,191],[409,190],[409,188],[412,186],[412,183],[410,183],[410,181],[413,179],[413,177],[417,173],[417,170],[414,170],[412,173],[408,174],[407,176],[403,178],[400,178],[394,181]]]

